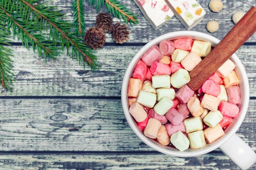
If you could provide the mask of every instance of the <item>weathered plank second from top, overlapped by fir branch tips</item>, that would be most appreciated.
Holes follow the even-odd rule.
[[[16,82],[2,96],[120,96],[125,70],[141,46],[105,46],[97,51],[101,68],[95,73],[65,53],[45,64],[32,50],[13,46]],[[120,52],[121,51],[121,52]],[[247,67],[251,97],[256,97],[256,47],[242,46],[237,55]]]

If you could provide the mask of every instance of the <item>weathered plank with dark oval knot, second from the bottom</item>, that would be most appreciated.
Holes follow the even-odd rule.
[[[237,134],[256,150],[256,100]],[[119,99],[1,99],[1,151],[152,151]]]

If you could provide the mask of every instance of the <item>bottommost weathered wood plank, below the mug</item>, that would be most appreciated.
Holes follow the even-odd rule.
[[[171,157],[161,153],[0,154],[4,170],[240,170],[227,156]],[[255,164],[249,170],[255,170]]]

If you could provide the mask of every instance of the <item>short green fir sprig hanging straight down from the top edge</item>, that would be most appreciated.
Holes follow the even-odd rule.
[[[76,27],[76,35],[83,35],[85,30],[83,0],[74,0],[72,3],[74,26]]]

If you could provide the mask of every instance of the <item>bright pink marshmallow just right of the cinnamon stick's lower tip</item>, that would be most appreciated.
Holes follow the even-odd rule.
[[[220,94],[220,84],[208,79],[202,85],[202,90],[208,95],[217,97]]]

